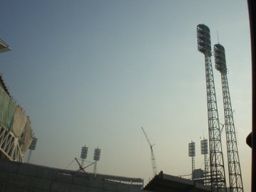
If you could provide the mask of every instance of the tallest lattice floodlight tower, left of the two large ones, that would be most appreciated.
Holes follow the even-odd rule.
[[[208,107],[208,134],[210,145],[211,191],[227,191],[223,151],[220,137],[218,107],[215,95],[213,68],[211,63],[210,29],[204,24],[197,26],[198,50],[205,55],[206,92]]]

